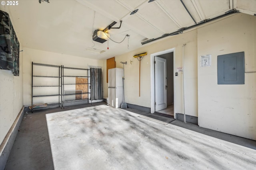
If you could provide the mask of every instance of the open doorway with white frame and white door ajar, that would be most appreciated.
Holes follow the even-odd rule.
[[[151,57],[151,113],[175,118],[174,61],[175,49],[160,51]]]

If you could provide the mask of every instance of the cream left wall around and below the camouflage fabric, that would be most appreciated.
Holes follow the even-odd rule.
[[[0,10],[9,13],[6,6],[0,6]],[[9,16],[12,21],[10,13]],[[20,50],[22,50],[18,29],[15,27],[15,23],[12,25],[20,43]],[[23,106],[22,60],[23,53],[20,52],[20,76],[14,76],[9,70],[0,70],[0,143],[2,143]]]

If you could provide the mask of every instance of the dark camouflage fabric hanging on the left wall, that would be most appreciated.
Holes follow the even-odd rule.
[[[20,43],[13,29],[9,14],[0,10],[0,69],[20,72]]]

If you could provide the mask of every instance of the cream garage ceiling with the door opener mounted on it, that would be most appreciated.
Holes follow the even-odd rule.
[[[150,2],[152,1],[152,2]],[[256,0],[22,0],[10,16],[23,47],[107,59],[142,47],[186,27],[222,16],[230,10],[256,15]],[[131,12],[137,10],[135,14]],[[232,11],[234,12],[234,10]],[[92,41],[94,30],[110,29],[104,43]],[[109,49],[107,49],[109,47]]]

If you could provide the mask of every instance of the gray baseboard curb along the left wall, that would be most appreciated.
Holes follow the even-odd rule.
[[[12,124],[12,127],[8,131],[7,135],[5,136],[4,141],[0,145],[0,170],[4,170],[6,166],[6,162],[8,160],[8,157],[12,150],[12,146],[18,134],[18,129],[20,127],[22,117],[24,116],[24,112],[25,112],[25,109],[23,106],[22,109],[20,110],[20,113],[16,117],[14,123]]]

